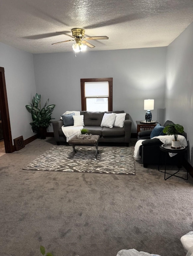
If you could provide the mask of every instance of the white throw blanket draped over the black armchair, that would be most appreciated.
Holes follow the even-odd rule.
[[[171,144],[172,143],[172,139],[174,139],[173,135],[160,135],[160,136],[155,136],[152,139],[159,139],[163,144]],[[144,141],[145,139],[139,139],[134,147],[134,159],[139,160],[140,159],[140,155],[139,155],[139,148],[142,145],[142,141]],[[188,146],[188,143],[186,141],[186,138],[182,135],[178,135],[178,140],[180,140],[180,145],[182,146]],[[169,153],[169,156],[175,156],[177,153]]]

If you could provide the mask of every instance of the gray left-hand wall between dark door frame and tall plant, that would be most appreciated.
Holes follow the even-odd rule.
[[[0,67],[5,69],[12,139],[21,135],[27,139],[34,135],[31,114],[25,107],[36,93],[33,56],[0,43]]]

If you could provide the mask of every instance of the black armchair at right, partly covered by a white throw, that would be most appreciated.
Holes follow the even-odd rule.
[[[164,123],[166,127],[169,123],[173,123],[170,120],[167,120]],[[141,131],[138,133],[138,139],[145,139],[140,146],[140,156],[143,163],[143,166],[146,168],[148,165],[158,165],[159,158],[160,164],[165,163],[165,153],[160,150],[160,145],[163,143],[159,139],[150,139],[150,134],[152,130]],[[167,155],[167,164],[175,164],[178,162],[178,155],[170,157]]]

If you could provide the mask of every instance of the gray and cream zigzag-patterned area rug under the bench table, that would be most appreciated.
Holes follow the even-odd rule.
[[[135,175],[132,149],[128,147],[99,147],[95,158],[94,146],[76,146],[73,159],[71,146],[52,146],[24,170],[57,172],[97,172]]]

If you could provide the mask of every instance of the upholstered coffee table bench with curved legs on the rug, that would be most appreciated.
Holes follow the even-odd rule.
[[[70,145],[72,145],[72,147],[73,147],[73,152],[72,152],[71,159],[73,158],[74,153],[77,152],[76,149],[75,149],[75,146],[77,146],[77,145],[94,145],[96,147],[96,154],[95,154],[95,159],[94,160],[96,160],[97,159],[97,154],[99,153],[99,151],[98,151],[99,138],[100,138],[99,135],[92,135],[92,137],[85,138],[85,139],[77,138],[76,136],[69,139],[68,143]]]

